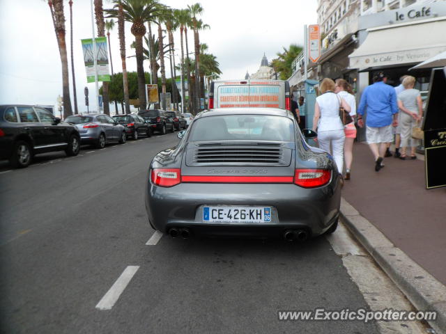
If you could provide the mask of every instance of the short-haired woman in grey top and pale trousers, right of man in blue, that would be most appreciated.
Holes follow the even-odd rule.
[[[406,150],[410,147],[410,159],[417,159],[415,150],[420,141],[412,138],[412,129],[423,116],[423,102],[420,90],[414,89],[415,78],[408,75],[403,80],[404,90],[398,95],[398,107],[401,111],[399,116],[401,129],[401,156],[399,159],[406,160]]]

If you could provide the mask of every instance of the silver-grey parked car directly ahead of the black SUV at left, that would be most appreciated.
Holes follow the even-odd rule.
[[[95,145],[96,148],[105,148],[105,144],[112,142],[123,144],[127,138],[125,127],[103,113],[72,115],[65,121],[79,129],[82,144]]]

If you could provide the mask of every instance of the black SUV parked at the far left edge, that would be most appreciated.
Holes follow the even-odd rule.
[[[61,122],[46,109],[29,105],[0,106],[0,159],[14,167],[31,164],[34,155],[65,150],[77,155],[80,136],[77,127]]]

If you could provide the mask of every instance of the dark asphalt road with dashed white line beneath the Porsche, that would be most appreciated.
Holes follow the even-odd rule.
[[[45,154],[22,170],[0,164],[2,333],[378,333],[278,320],[279,310],[367,308],[324,237],[151,239],[149,162],[176,143],[167,134]]]

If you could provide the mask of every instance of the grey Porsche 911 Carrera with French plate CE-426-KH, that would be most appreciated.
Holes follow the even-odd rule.
[[[146,211],[171,237],[284,237],[337,228],[342,177],[305,142],[291,112],[224,108],[199,113],[148,170]]]

